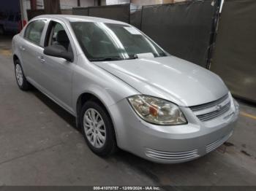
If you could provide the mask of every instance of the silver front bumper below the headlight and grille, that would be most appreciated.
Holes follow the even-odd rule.
[[[157,163],[181,163],[206,155],[233,133],[238,104],[208,122],[201,122],[188,108],[181,108],[188,124],[160,126],[141,120],[126,99],[110,106],[118,147]]]

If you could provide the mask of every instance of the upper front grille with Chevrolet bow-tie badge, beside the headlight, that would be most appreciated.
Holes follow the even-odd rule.
[[[205,122],[225,114],[230,109],[230,98],[227,94],[217,101],[211,101],[198,106],[190,106],[189,108],[199,120]]]

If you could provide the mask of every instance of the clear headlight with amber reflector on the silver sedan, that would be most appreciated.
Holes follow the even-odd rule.
[[[148,95],[128,98],[135,112],[147,122],[157,125],[181,125],[187,120],[176,104]]]

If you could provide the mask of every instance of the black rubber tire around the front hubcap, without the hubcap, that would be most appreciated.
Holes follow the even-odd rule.
[[[101,148],[94,147],[86,136],[85,128],[83,127],[83,117],[88,109],[95,109],[97,112],[99,112],[105,124],[105,144]],[[80,113],[80,128],[83,132],[83,137],[86,140],[86,143],[88,144],[91,151],[94,152],[96,155],[99,155],[101,157],[108,157],[109,155],[116,152],[116,135],[113,128],[113,122],[102,104],[99,104],[97,103],[97,101],[93,100],[87,101],[85,104],[83,104]]]

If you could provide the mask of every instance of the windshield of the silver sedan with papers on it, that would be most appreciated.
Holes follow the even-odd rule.
[[[71,25],[89,61],[135,59],[142,53],[166,56],[157,44],[131,26],[92,22],[71,22]]]

